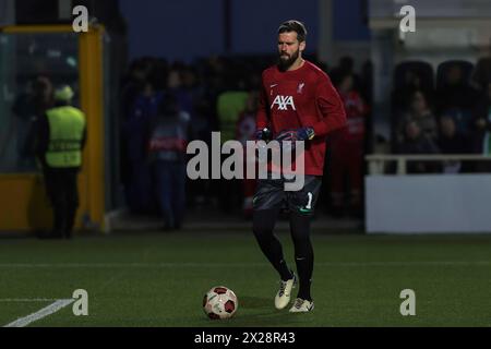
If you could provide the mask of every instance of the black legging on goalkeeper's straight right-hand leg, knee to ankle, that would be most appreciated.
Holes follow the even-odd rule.
[[[298,298],[312,301],[310,293],[313,273],[313,248],[310,241],[310,217],[291,213],[291,237],[295,243],[295,262],[299,276]]]

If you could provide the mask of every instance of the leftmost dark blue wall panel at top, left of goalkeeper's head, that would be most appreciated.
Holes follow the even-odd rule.
[[[130,58],[192,60],[223,51],[221,0],[120,0]]]

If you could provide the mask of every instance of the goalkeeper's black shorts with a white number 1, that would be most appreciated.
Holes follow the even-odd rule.
[[[322,177],[319,176],[306,176],[303,188],[298,192],[285,191],[285,179],[259,180],[253,209],[279,208],[311,216],[315,209],[321,185]]]

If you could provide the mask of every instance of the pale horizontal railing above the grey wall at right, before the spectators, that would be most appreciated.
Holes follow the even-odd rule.
[[[491,161],[491,156],[452,154],[452,155],[402,155],[402,154],[371,154],[364,157],[369,161],[369,174],[384,174],[385,163],[397,163],[397,174],[407,173],[407,161]]]

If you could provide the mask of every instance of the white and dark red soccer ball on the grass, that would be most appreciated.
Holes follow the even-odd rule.
[[[203,298],[203,310],[212,320],[230,318],[239,308],[239,300],[232,290],[225,286],[212,288]]]

